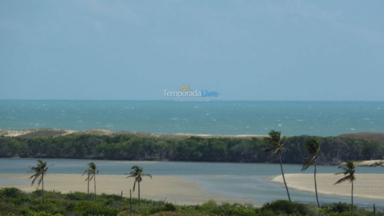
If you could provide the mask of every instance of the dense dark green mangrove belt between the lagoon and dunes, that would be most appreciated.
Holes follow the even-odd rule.
[[[308,153],[303,143],[310,136],[285,140],[285,163],[303,163]],[[379,160],[384,145],[373,140],[346,137],[313,137],[321,145],[318,164],[339,164],[346,160]],[[0,136],[0,157],[87,158],[108,160],[171,160],[277,163],[277,157],[263,152],[262,138],[156,139],[134,135],[65,135],[57,137]]]

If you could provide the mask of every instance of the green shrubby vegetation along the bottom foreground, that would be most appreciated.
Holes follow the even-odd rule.
[[[208,201],[201,205],[177,205],[162,201],[142,199],[141,207],[137,199],[132,199],[130,214],[129,198],[118,195],[100,194],[96,201],[86,201],[87,194],[73,192],[45,192],[46,203],[41,202],[41,191],[24,193],[17,188],[0,189],[0,216],[349,216],[351,206],[334,203],[321,208],[302,203],[277,200],[262,207],[251,204],[217,204]],[[355,216],[374,216],[372,211],[356,208]],[[384,216],[377,211],[376,216]]]

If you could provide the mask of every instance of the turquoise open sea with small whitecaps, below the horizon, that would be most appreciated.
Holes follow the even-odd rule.
[[[384,132],[384,102],[0,100],[0,128],[331,136]]]

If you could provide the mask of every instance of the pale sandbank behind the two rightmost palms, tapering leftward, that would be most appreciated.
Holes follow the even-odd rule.
[[[351,196],[351,183],[344,182],[333,185],[340,178],[343,178],[343,174],[316,174],[318,193],[334,196]],[[315,192],[313,174],[285,174],[285,179],[290,189]],[[382,179],[384,179],[384,174],[356,174],[356,181],[353,183],[354,196],[384,200]],[[271,181],[283,184],[283,177],[281,175],[276,176]]]

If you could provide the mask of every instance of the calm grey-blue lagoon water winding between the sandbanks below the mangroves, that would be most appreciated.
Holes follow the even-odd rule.
[[[79,159],[44,159],[48,164],[55,164],[49,168],[49,173],[77,173],[82,174],[89,160]],[[139,165],[147,173],[153,175],[180,175],[187,180],[201,183],[201,187],[219,194],[227,194],[234,198],[254,198],[254,203],[260,204],[275,199],[286,199],[286,191],[280,185],[270,183],[269,180],[280,174],[279,164],[244,164],[244,163],[202,163],[202,162],[168,162],[168,161],[106,161],[93,160],[100,170],[99,174],[124,174],[132,165]],[[0,173],[26,173],[30,164],[36,159],[31,158],[0,158]],[[85,167],[85,168],[84,168]],[[301,165],[285,164],[285,173],[298,173]],[[335,173],[336,166],[318,166],[318,173]],[[309,168],[305,173],[312,173]],[[382,168],[358,167],[358,173],[383,173]],[[220,176],[214,176],[220,175]],[[14,179],[0,179],[1,184],[14,182]],[[26,179],[24,182],[29,183]],[[314,203],[314,194],[291,190],[294,201]],[[324,203],[349,202],[349,197],[319,195]],[[180,200],[181,201],[181,200]],[[235,201],[235,200],[234,200]],[[355,198],[354,203],[371,208],[376,203],[384,208],[384,201]]]

